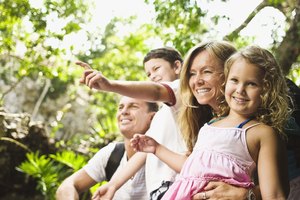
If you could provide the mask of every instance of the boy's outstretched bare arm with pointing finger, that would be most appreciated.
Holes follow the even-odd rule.
[[[101,72],[93,70],[87,63],[78,61],[76,64],[85,69],[80,82],[90,88],[146,101],[172,102],[172,97],[162,84],[151,81],[109,80]]]

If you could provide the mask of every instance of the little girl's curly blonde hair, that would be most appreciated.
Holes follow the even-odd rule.
[[[233,63],[240,59],[244,59],[263,71],[263,85],[260,95],[261,105],[256,112],[256,119],[271,126],[277,133],[286,138],[284,125],[291,114],[291,109],[289,108],[286,79],[275,57],[268,50],[259,46],[248,46],[233,54],[226,61],[224,69],[225,80],[227,80]],[[225,84],[222,87],[223,93],[224,88]],[[222,101],[220,115],[228,115],[229,109],[226,101]]]

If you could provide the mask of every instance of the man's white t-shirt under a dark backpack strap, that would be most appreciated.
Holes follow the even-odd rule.
[[[96,182],[106,180],[105,167],[111,152],[114,150],[116,143],[110,143],[101,148],[88,162],[83,169]],[[127,163],[126,151],[121,159],[117,170],[121,170]],[[145,167],[142,167],[132,179],[129,179],[119,190],[115,193],[114,200],[148,200],[149,197],[146,192],[145,185]]]

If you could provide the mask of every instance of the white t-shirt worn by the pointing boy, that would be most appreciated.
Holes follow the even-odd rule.
[[[178,97],[179,80],[167,84]],[[177,153],[186,153],[187,148],[176,123],[176,115],[180,106],[179,98],[176,104],[168,106],[163,104],[154,115],[150,128],[146,135],[154,138],[158,143]],[[174,182],[177,173],[153,154],[147,154],[146,164],[146,187],[148,195],[162,184],[162,181]]]

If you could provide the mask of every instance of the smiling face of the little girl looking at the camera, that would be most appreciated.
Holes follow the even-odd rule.
[[[245,59],[236,60],[230,68],[225,86],[225,98],[230,112],[252,116],[261,104],[264,72]]]

